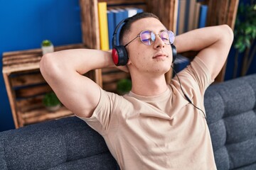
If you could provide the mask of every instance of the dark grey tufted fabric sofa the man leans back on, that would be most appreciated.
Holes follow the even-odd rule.
[[[256,169],[256,74],[211,85],[205,106],[219,170]],[[119,169],[102,137],[76,117],[0,133],[0,169]]]

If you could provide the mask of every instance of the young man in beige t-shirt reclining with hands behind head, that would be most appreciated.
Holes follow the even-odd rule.
[[[43,77],[70,111],[105,138],[121,169],[216,169],[203,94],[225,63],[232,30],[213,26],[176,36],[177,52],[199,51],[178,73],[181,85],[177,77],[166,84],[172,37],[165,36],[171,32],[156,16],[139,13],[121,32],[129,60],[119,68],[131,74],[129,94],[104,91],[82,76],[92,69],[115,67],[111,52],[101,50],[44,55]]]

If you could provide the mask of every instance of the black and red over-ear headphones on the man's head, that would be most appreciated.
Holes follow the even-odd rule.
[[[113,33],[113,38],[112,38],[112,60],[114,62],[114,64],[116,64],[117,66],[120,65],[126,65],[129,57],[128,57],[128,53],[127,50],[125,49],[124,45],[117,45],[117,31],[119,29],[119,27],[123,24],[126,23],[129,20],[129,18],[126,18],[124,20],[122,20],[121,22],[119,22],[117,24],[117,27],[114,29],[114,33]],[[176,55],[177,55],[177,50],[175,45],[171,44],[171,50],[172,50],[172,54],[173,54],[173,61],[176,59]]]

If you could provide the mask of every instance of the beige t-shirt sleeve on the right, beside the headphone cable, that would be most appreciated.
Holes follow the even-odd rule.
[[[186,69],[179,72],[178,77],[183,86],[183,90],[191,97],[194,96],[195,91],[196,94],[200,92],[201,96],[203,96],[208,86],[213,83],[210,71],[199,57],[195,57]],[[179,84],[177,77],[174,77],[174,84],[175,82]]]

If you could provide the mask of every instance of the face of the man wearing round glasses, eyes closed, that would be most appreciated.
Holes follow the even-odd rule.
[[[164,25],[156,18],[142,18],[132,23],[130,32],[124,38],[124,44],[134,39],[142,30],[151,30],[156,40],[151,45],[144,45],[140,38],[127,45],[130,72],[164,74],[169,71],[172,62],[171,45],[166,45],[159,37]]]

